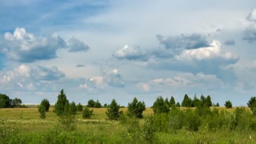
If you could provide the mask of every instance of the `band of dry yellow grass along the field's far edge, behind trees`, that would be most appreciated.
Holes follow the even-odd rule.
[[[233,112],[235,107],[231,109],[226,109],[225,107],[216,107],[217,109],[224,109],[228,112]],[[92,108],[93,109],[93,116],[92,119],[105,119],[107,118],[105,112],[107,108]],[[181,109],[187,109],[186,107],[181,107]],[[195,108],[192,108],[195,109]],[[213,109],[213,107],[211,107]],[[250,110],[249,107],[246,107],[246,109]],[[127,108],[120,108],[120,110],[123,110],[123,112],[127,112]],[[146,110],[143,112],[144,117],[147,117],[149,115],[153,115],[153,109],[147,107]],[[8,119],[40,119],[39,118],[39,112],[37,111],[37,108],[6,108],[6,109],[0,109],[0,118],[8,118]],[[82,118],[82,112],[77,112],[76,115],[77,118]],[[49,112],[46,113],[46,120],[56,120],[58,117],[53,112],[53,108],[51,107]]]

